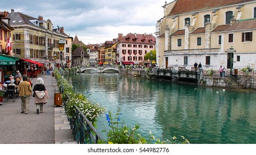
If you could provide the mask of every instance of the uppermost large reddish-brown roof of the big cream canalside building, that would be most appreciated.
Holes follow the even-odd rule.
[[[213,9],[250,1],[254,0],[177,0],[175,6],[168,16],[203,11],[205,9]]]

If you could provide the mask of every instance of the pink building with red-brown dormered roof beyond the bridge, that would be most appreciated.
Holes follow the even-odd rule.
[[[128,33],[125,37],[119,37],[116,61],[123,65],[149,63],[144,56],[155,49],[155,43],[156,38],[152,34]]]

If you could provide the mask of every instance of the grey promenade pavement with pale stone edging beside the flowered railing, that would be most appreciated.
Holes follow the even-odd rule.
[[[29,113],[21,113],[21,99],[9,99],[0,106],[0,144],[64,144],[76,143],[64,107],[54,106],[57,83],[52,75],[40,74],[48,91],[44,113],[36,113],[34,97],[30,97]],[[37,78],[30,78],[33,86]],[[32,88],[33,89],[33,88]],[[5,99],[4,99],[5,100]]]

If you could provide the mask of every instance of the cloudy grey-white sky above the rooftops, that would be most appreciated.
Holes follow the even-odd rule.
[[[165,0],[166,1],[166,0]],[[162,0],[9,0],[2,1],[0,11],[22,12],[34,18],[50,19],[53,27],[85,44],[104,43],[118,33],[153,34],[163,17]],[[167,1],[170,3],[173,0]]]

